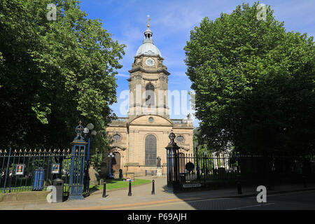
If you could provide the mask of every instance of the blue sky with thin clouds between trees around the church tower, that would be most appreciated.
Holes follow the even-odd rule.
[[[255,1],[235,0],[156,0],[156,1],[117,1],[117,0],[82,0],[80,9],[85,10],[87,18],[102,20],[103,27],[112,35],[113,40],[127,45],[125,55],[120,60],[123,65],[118,69],[116,76],[118,103],[113,104],[111,109],[118,117],[127,117],[122,113],[122,106],[127,98],[123,94],[129,89],[127,78],[137,49],[144,39],[147,15],[150,15],[150,29],[153,31],[153,41],[164,58],[163,64],[167,66],[169,76],[168,87],[172,92],[178,90],[181,97],[185,98],[185,92],[190,91],[190,79],[186,76],[185,51],[183,48],[190,39],[190,31],[199,26],[202,18],[208,17],[216,20],[221,13],[232,13],[232,10],[241,3],[253,4]],[[307,36],[315,34],[315,1],[260,1],[271,6],[276,20],[284,21],[286,31],[298,31]],[[174,109],[172,98],[170,118],[186,118],[189,109],[189,99],[183,101],[184,110],[179,113]],[[182,102],[181,102],[182,103]],[[186,105],[185,105],[186,103]],[[124,104],[125,105],[125,104]],[[193,116],[193,125],[198,126],[199,120]]]

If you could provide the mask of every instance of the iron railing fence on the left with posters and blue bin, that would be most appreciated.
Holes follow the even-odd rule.
[[[68,196],[71,158],[73,184],[82,182],[84,151],[0,150],[0,193],[46,190],[54,179],[62,179],[64,196]]]

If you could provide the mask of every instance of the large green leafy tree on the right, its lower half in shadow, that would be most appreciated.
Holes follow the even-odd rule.
[[[187,75],[209,148],[239,152],[314,152],[313,36],[286,32],[267,6],[242,4],[190,31]]]

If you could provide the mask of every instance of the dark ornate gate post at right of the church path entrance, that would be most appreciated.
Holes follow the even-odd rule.
[[[169,134],[169,144],[167,150],[167,187],[170,190],[179,190],[179,146],[177,146],[175,134]]]

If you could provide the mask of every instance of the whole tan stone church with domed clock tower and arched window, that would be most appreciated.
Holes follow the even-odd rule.
[[[168,79],[160,50],[154,45],[152,31],[144,32],[143,44],[134,56],[127,79],[130,87],[127,118],[113,120],[106,128],[110,150],[103,158],[102,174],[109,174],[109,153],[113,153],[112,173],[144,176],[156,174],[158,160],[166,175],[169,133],[176,134],[182,155],[193,154],[193,123],[187,119],[170,119]],[[161,169],[160,169],[161,170]]]

